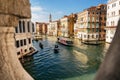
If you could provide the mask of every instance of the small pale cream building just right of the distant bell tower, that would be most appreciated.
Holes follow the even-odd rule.
[[[52,21],[48,23],[48,32],[49,36],[58,36],[59,21]]]

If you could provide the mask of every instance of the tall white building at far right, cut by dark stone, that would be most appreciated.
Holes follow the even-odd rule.
[[[120,19],[120,0],[108,0],[106,21],[106,42],[111,43],[119,19]]]

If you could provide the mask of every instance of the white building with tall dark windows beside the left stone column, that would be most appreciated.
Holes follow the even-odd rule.
[[[18,26],[15,27],[15,43],[18,58],[33,50],[32,39],[34,32],[34,23],[29,19],[21,19]]]

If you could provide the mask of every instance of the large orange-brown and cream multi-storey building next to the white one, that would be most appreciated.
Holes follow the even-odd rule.
[[[77,14],[76,37],[82,41],[104,41],[106,5],[93,6]]]

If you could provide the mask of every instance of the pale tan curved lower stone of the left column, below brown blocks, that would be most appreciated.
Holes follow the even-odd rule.
[[[0,80],[33,80],[17,58],[14,28],[0,27],[0,36]]]

